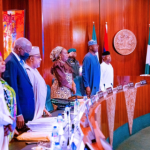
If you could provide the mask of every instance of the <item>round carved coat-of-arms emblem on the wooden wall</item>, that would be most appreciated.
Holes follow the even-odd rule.
[[[130,30],[120,30],[114,38],[114,47],[121,55],[131,54],[136,47],[136,37]]]

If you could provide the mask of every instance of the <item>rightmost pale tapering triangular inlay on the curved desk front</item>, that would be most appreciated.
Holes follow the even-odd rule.
[[[128,89],[127,91],[124,91],[130,134],[132,134],[136,92],[137,92],[137,88],[132,88],[132,89]]]

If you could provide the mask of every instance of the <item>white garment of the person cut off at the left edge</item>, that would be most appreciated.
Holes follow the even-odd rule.
[[[8,150],[9,139],[8,136],[4,136],[4,126],[13,124],[13,120],[10,118],[6,102],[4,100],[4,90],[0,82],[0,150]]]

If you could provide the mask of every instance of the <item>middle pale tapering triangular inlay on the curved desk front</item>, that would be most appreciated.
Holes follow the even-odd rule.
[[[106,99],[107,116],[108,116],[108,127],[109,127],[109,138],[110,144],[113,143],[113,132],[114,132],[114,120],[115,120],[115,108],[116,108],[116,94],[109,96]]]

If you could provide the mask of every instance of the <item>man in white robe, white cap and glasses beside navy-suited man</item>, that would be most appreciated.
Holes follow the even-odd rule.
[[[41,60],[39,47],[32,47],[32,50],[29,53],[29,58],[26,60],[25,68],[33,86],[35,96],[35,113],[33,120],[40,118],[43,111],[46,115],[51,116],[51,114],[45,109],[47,86],[43,77],[37,70],[37,68],[40,67]]]

